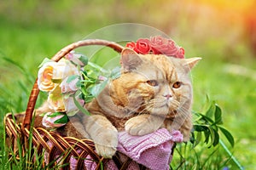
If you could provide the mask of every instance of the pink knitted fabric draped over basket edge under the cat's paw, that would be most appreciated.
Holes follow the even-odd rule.
[[[131,136],[121,132],[118,150],[149,169],[165,170],[169,169],[172,161],[174,142],[182,141],[183,135],[179,131],[170,133],[165,128],[143,136]]]

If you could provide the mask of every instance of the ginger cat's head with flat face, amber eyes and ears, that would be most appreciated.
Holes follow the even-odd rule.
[[[133,112],[175,116],[190,112],[189,72],[201,58],[177,59],[166,55],[121,53],[122,74],[115,86],[118,105]]]

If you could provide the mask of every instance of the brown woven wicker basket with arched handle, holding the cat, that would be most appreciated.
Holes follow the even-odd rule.
[[[52,58],[54,61],[59,61],[66,54],[71,52],[74,48],[79,48],[81,46],[88,45],[103,45],[108,46],[109,48],[113,48],[115,51],[120,53],[123,49],[122,46],[115,42],[108,42],[105,40],[99,39],[89,39],[79,42],[74,42],[68,45],[65,48],[62,48],[55,56]],[[36,148],[38,154],[42,154],[44,150],[48,153],[48,160],[54,161],[55,156],[59,156],[63,154],[63,158],[61,160],[61,164],[67,164],[70,161],[70,158],[77,157],[77,167],[76,169],[86,169],[84,166],[84,159],[88,156],[94,162],[96,162],[96,169],[100,169],[102,165],[106,165],[109,159],[104,159],[102,156],[98,156],[95,151],[95,146],[93,141],[90,139],[76,139],[73,137],[64,137],[55,132],[49,132],[42,127],[31,127],[32,124],[32,115],[34,113],[34,107],[36,101],[38,99],[38,84],[37,81],[34,83],[32,92],[30,94],[26,115],[24,121],[22,123],[16,123],[15,116],[12,114],[8,114],[5,116],[5,129],[6,135],[8,139],[9,146],[12,147],[13,150],[16,149],[16,141],[20,139],[22,142],[22,151],[25,153],[27,147],[27,139],[30,135],[32,135],[32,146]],[[31,134],[32,133],[32,134]],[[52,145],[51,147],[49,146]],[[67,152],[67,149],[69,151]],[[173,150],[173,148],[172,148]],[[119,169],[126,169],[131,162],[135,163],[131,159],[127,159],[125,161],[120,161],[120,154],[117,153],[113,156],[113,162]],[[56,162],[55,162],[56,163]],[[60,162],[59,162],[60,163]],[[55,164],[49,166],[49,168],[54,167]],[[43,165],[45,166],[45,165]],[[146,169],[142,165],[138,165],[140,169]],[[63,169],[69,169],[69,166],[63,167]]]

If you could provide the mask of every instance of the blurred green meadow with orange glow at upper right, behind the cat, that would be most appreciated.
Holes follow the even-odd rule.
[[[254,0],[1,1],[1,121],[9,111],[26,110],[38,65],[45,57],[104,26],[140,23],[166,32],[185,48],[187,58],[203,58],[192,74],[194,110],[201,111],[207,95],[216,100],[224,112],[224,126],[236,139],[235,156],[242,166],[253,169],[255,8]]]

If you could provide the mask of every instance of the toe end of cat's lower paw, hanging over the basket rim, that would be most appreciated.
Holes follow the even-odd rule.
[[[112,158],[116,152],[116,147],[106,146],[102,144],[95,144],[96,152],[98,155],[103,156],[104,158]]]

